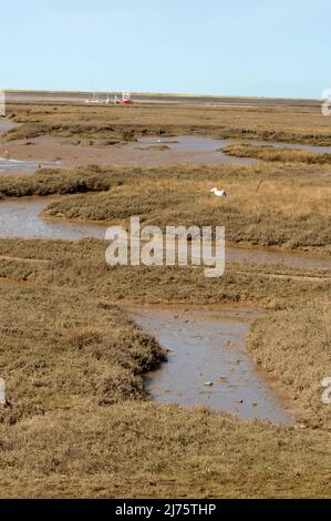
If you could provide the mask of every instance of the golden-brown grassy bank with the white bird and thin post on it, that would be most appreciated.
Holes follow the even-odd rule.
[[[131,178],[97,195],[81,195],[52,202],[44,215],[105,222],[127,221],[139,215],[144,224],[224,225],[227,239],[259,246],[325,248],[331,245],[331,174],[316,175],[311,167],[216,167],[208,174],[157,168]],[[281,170],[281,172],[280,172]],[[234,175],[231,175],[234,173]],[[228,197],[215,197],[221,186]],[[127,224],[127,223],[126,223]]]

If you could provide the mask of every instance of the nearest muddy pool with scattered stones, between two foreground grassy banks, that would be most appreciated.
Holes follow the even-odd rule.
[[[155,400],[206,405],[245,419],[292,421],[283,399],[245,351],[245,335],[257,310],[144,307],[131,309],[131,316],[169,350],[168,362],[146,376]]]

